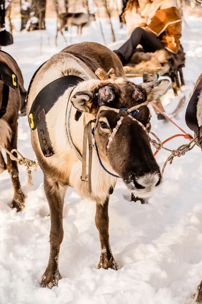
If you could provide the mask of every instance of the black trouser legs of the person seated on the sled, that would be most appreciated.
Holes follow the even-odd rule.
[[[119,54],[126,63],[130,60],[136,47],[140,44],[145,52],[155,52],[156,50],[164,49],[163,44],[157,37],[151,35],[141,27],[135,28],[130,38],[118,50],[114,51]]]

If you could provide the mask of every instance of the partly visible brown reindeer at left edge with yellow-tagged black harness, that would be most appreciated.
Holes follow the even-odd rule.
[[[17,148],[18,112],[25,89],[19,66],[3,51],[0,51],[0,71],[0,143],[8,150],[12,150]],[[6,169],[11,175],[14,187],[12,208],[21,211],[25,207],[25,195],[21,189],[17,163],[7,155],[6,165],[0,146],[0,173]]]

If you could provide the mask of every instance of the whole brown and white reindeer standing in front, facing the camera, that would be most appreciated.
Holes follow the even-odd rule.
[[[114,68],[117,78],[102,81],[93,71],[96,68],[102,68],[106,73]],[[69,86],[77,78],[78,82]],[[68,79],[70,84],[61,90],[63,81]],[[89,42],[65,48],[35,73],[28,92],[27,115],[32,128],[32,147],[44,174],[44,191],[51,214],[51,251],[41,286],[51,288],[61,279],[58,260],[68,186],[82,198],[96,203],[95,224],[101,246],[98,269],[117,270],[109,241],[108,204],[117,182],[113,175],[119,175],[138,197],[148,197],[161,183],[160,169],[146,131],[149,109],[147,106],[141,106],[139,112],[131,109],[130,115],[126,109],[155,100],[168,83],[165,80],[134,85],[124,78],[121,61],[112,51]],[[48,102],[51,107],[45,109]],[[89,154],[92,153],[92,189],[89,191],[89,180],[81,179],[79,155],[84,158],[84,127],[89,126],[91,120],[95,123],[97,151],[89,145]]]

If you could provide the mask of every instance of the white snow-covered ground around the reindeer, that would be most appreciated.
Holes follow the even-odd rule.
[[[103,21],[106,40],[111,43],[110,26]],[[117,40],[125,38],[114,20]],[[15,43],[4,48],[18,62],[25,87],[37,67],[65,47],[59,35],[54,44],[56,20],[47,20],[47,31],[15,32]],[[16,30],[19,23],[16,22]],[[186,51],[184,77],[186,93],[202,72],[202,21],[186,18],[182,44]],[[73,28],[68,43],[94,41],[102,43],[98,23],[84,28],[77,36]],[[111,46],[112,47],[112,46]],[[113,47],[112,47],[113,48]],[[190,90],[189,90],[190,92]],[[184,122],[186,106],[176,122],[189,132]],[[169,107],[168,107],[169,110]],[[152,129],[164,140],[178,133],[171,123],[157,121]],[[185,139],[168,143],[177,148]],[[18,149],[35,158],[26,118],[19,119]],[[166,151],[157,155],[163,166]],[[20,179],[28,197],[22,213],[10,208],[13,187],[8,172],[0,176],[0,303],[1,304],[186,304],[202,279],[202,154],[198,147],[165,170],[164,182],[146,205],[129,202],[129,193],[118,182],[110,198],[111,247],[120,269],[96,269],[99,239],[94,224],[95,203],[80,199],[69,188],[64,207],[64,240],[60,252],[58,287],[40,288],[39,281],[49,255],[50,217],[43,191],[43,175],[33,174],[34,186],[26,188],[26,171]]]

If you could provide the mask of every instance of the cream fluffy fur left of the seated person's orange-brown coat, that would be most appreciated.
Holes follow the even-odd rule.
[[[146,22],[146,16],[149,12],[151,2],[150,0],[128,0],[127,5],[121,15],[122,23],[126,24],[126,35],[130,37],[133,30],[139,26],[140,23]]]

